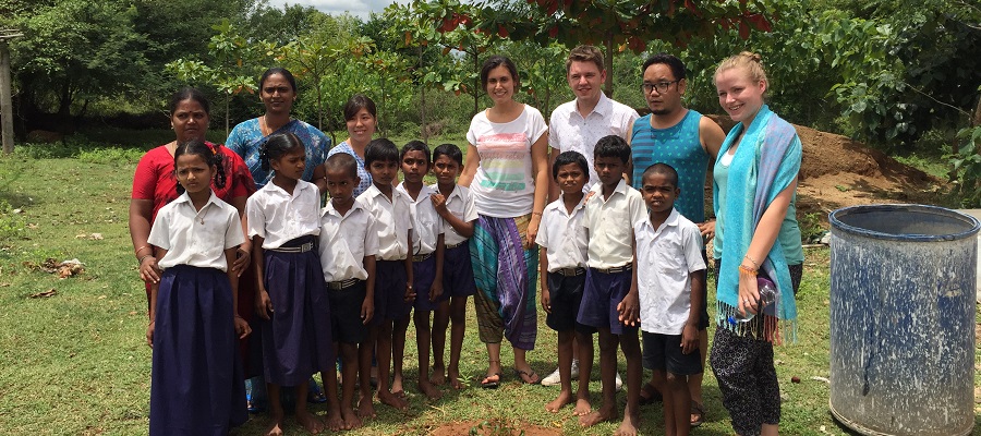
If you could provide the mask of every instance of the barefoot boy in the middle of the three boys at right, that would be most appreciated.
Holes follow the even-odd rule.
[[[580,416],[591,426],[619,414],[616,403],[617,343],[627,360],[627,409],[618,435],[635,435],[640,421],[638,398],[643,368],[638,338],[637,268],[633,256],[633,223],[643,220],[646,208],[640,192],[623,180],[630,162],[630,146],[609,135],[596,143],[593,166],[600,183],[586,201],[583,226],[590,235],[586,284],[577,320],[600,329],[600,373],[603,407]],[[586,341],[580,341],[580,352]],[[592,362],[580,361],[580,377],[590,374]]]

